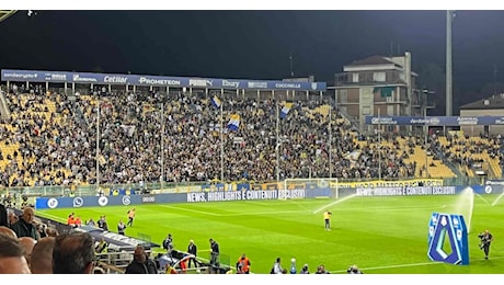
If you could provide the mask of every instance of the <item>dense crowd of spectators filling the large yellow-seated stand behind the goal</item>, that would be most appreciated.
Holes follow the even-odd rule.
[[[213,95],[11,90],[5,94],[11,117],[0,121],[0,141],[12,148],[0,151],[0,186],[159,182],[161,166],[165,182],[219,180],[221,155],[226,181],[415,175],[401,146],[380,147],[376,135],[359,135],[327,98],[275,101],[271,94],[219,92],[221,122]],[[277,105],[282,110],[284,101],[294,104],[277,129]],[[227,128],[231,114],[240,115],[236,132]],[[387,135],[382,139],[393,141]]]

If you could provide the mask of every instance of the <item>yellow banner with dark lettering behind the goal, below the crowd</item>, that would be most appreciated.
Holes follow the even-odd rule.
[[[401,181],[371,180],[359,182],[339,182],[340,189],[374,189],[397,186],[443,186],[443,179],[412,179]]]

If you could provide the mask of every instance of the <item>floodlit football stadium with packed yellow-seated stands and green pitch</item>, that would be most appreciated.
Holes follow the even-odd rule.
[[[54,273],[502,273],[504,96],[431,116],[411,58],[334,82],[1,69],[0,244],[54,237]]]

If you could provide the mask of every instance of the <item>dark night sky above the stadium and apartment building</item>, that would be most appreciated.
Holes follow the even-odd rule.
[[[332,86],[334,73],[353,60],[408,50],[415,71],[434,65],[444,76],[445,15],[440,10],[37,10],[28,18],[20,11],[0,23],[0,67],[273,80],[289,77],[291,53],[295,77],[313,75]],[[456,12],[454,110],[491,95],[494,75],[504,92],[503,35],[504,11]],[[444,96],[439,82],[429,88]]]

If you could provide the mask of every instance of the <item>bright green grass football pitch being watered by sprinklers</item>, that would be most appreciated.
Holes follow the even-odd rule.
[[[116,231],[119,219],[136,208],[126,235],[150,236],[158,244],[172,233],[175,249],[186,251],[188,240],[198,256],[208,259],[209,242],[219,243],[221,263],[233,265],[245,253],[253,273],[266,274],[277,256],[298,272],[319,264],[334,274],[357,264],[370,274],[496,274],[504,273],[504,198],[499,195],[347,197],[341,200],[240,201],[220,203],[151,204],[37,210],[58,221],[73,212],[82,220],[106,215]],[[324,230],[323,210],[332,212],[331,231]],[[469,228],[469,265],[433,262],[427,256],[432,213],[461,214]],[[494,236],[490,259],[479,249],[478,233]],[[444,246],[444,249],[447,248]]]

